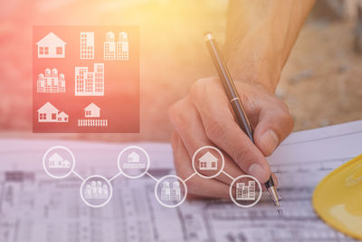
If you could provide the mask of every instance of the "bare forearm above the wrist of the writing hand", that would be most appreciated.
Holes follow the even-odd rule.
[[[274,92],[315,0],[230,0],[226,60],[235,80]]]

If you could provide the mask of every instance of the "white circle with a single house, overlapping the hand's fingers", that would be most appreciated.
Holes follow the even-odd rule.
[[[197,162],[195,160],[197,160]],[[192,165],[200,177],[204,179],[214,179],[224,169],[224,155],[214,146],[203,146],[195,151]],[[203,172],[203,174],[201,172]]]

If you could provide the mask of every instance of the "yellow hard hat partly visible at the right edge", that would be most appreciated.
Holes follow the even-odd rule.
[[[362,239],[362,154],[322,179],[312,202],[319,217],[331,227]]]

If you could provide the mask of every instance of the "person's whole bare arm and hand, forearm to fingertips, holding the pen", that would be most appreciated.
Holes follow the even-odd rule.
[[[249,174],[265,182],[273,176],[266,156],[292,131],[288,107],[274,92],[281,70],[314,3],[312,0],[231,0],[226,36],[227,64],[254,127],[254,141],[243,133],[230,111],[218,78],[196,81],[185,98],[169,110],[178,176],[194,173],[192,157],[203,146],[224,152],[224,171],[232,177]],[[204,175],[205,170],[198,169]],[[274,180],[277,180],[275,176]],[[195,176],[190,194],[229,198],[231,179]]]

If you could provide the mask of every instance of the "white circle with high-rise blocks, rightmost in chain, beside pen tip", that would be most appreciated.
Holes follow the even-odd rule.
[[[233,185],[236,182],[236,186]],[[250,175],[242,175],[233,179],[229,189],[230,198],[236,206],[251,208],[262,198],[262,185],[258,179]]]

